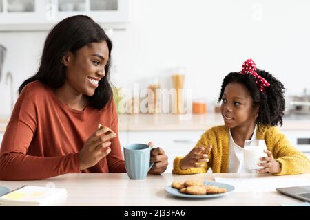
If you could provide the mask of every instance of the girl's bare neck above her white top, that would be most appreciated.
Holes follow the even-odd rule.
[[[255,122],[245,126],[234,127],[230,129],[230,131],[231,136],[234,139],[234,142],[238,144],[238,146],[243,147],[243,145],[245,144],[245,140],[249,140],[251,139],[252,135],[255,135],[254,129],[255,129]]]

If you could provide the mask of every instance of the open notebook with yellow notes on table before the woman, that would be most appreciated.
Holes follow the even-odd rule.
[[[65,188],[22,186],[0,197],[0,206],[43,206],[50,205],[67,196]]]

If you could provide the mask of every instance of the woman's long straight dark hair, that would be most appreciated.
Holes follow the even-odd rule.
[[[112,88],[109,82],[110,55],[112,42],[104,30],[90,17],[76,15],[60,21],[48,34],[41,63],[37,74],[25,80],[19,87],[19,94],[25,85],[34,80],[39,80],[53,89],[58,89],[65,84],[65,65],[62,63],[63,56],[67,52],[75,54],[77,50],[90,43],[106,41],[109,48],[109,61],[105,65],[105,77],[99,81],[99,87],[93,96],[87,96],[90,106],[102,109],[112,100]]]

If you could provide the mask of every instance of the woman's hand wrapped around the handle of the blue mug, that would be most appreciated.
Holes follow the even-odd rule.
[[[149,142],[149,147],[152,147],[152,142]],[[151,150],[151,162],[154,162],[154,165],[149,170],[149,173],[161,174],[164,173],[168,166],[168,156],[165,151],[158,147]]]

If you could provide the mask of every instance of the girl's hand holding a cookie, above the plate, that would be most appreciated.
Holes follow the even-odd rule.
[[[204,164],[197,164],[202,162],[209,162],[208,154],[212,148],[211,144],[208,144],[206,147],[196,147],[190,151],[186,157],[181,159],[180,168],[186,170],[187,168],[198,168],[205,166]]]

